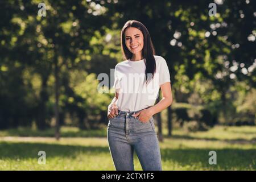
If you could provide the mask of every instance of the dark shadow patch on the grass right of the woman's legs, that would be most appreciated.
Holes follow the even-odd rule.
[[[216,151],[217,165],[210,165],[208,160],[210,158],[209,151]],[[256,151],[253,149],[239,150],[239,149],[221,149],[214,148],[205,149],[168,149],[161,150],[162,161],[168,160],[179,163],[181,166],[188,166],[188,169],[195,169],[200,166],[202,169],[213,170],[255,170]]]

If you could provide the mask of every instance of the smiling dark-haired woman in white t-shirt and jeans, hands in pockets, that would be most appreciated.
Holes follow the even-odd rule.
[[[115,66],[115,97],[108,106],[108,144],[116,170],[134,171],[134,150],[143,170],[162,170],[152,115],[172,103],[166,60],[156,56],[147,28],[129,20],[121,31],[125,61]],[[155,104],[161,88],[163,99]]]

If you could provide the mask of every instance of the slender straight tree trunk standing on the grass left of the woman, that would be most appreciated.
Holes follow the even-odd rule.
[[[55,52],[56,53],[56,52]],[[60,123],[59,123],[59,68],[58,68],[58,57],[55,56],[55,70],[54,70],[54,76],[55,76],[55,138],[57,140],[60,139]]]

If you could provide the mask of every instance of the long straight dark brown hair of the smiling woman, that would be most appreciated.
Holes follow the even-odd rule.
[[[146,74],[146,82],[148,82],[154,77],[155,69],[156,69],[155,57],[154,57],[155,49],[154,49],[150,34],[147,28],[137,20],[129,20],[125,23],[121,31],[121,48],[122,48],[123,56],[126,60],[131,59],[131,57],[133,56],[133,53],[129,51],[129,49],[126,47],[126,44],[125,44],[125,31],[126,31],[126,28],[128,27],[138,28],[139,30],[142,31],[142,34],[144,37],[142,57],[144,59],[144,63],[146,64],[145,74]],[[150,74],[149,77],[147,74]]]

